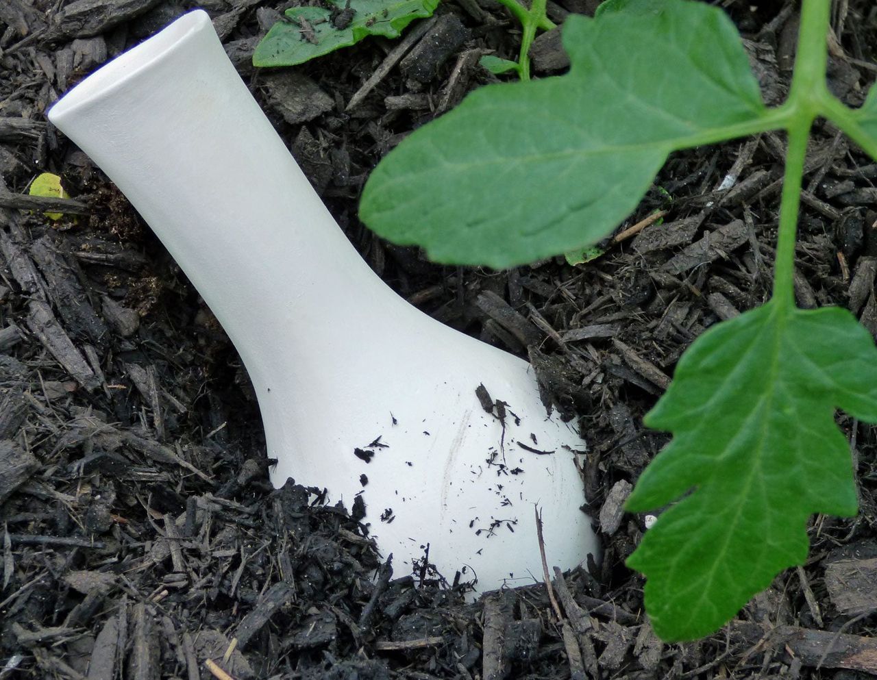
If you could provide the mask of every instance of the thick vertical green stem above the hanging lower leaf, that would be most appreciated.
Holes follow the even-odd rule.
[[[774,299],[787,308],[795,307],[795,235],[807,140],[814,118],[830,98],[825,86],[830,5],[830,0],[803,0],[795,72],[788,93],[791,120],[774,263]]]

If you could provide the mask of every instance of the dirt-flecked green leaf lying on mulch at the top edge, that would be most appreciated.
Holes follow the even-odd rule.
[[[325,0],[325,4],[336,9],[289,8],[288,20],[273,25],[256,46],[253,66],[295,66],[370,35],[398,38],[414,19],[431,16],[439,0],[350,0],[349,5]]]

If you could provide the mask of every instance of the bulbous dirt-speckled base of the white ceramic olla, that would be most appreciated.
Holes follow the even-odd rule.
[[[364,364],[370,377],[348,375],[325,395],[313,427],[290,414],[301,398],[283,396],[279,374],[270,392],[257,387],[275,485],[325,486],[348,508],[360,495],[396,574],[411,573],[428,545],[439,573],[477,578],[477,591],[541,581],[536,509],[549,568],[596,557],[576,466],[585,445],[572,424],[548,417],[531,366],[417,316],[410,326],[431,327],[428,343],[412,352],[417,343],[389,342]]]

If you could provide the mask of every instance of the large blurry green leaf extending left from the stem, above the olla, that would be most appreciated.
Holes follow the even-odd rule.
[[[773,120],[736,29],[707,4],[629,0],[571,15],[563,41],[568,74],[476,90],[390,152],[362,220],[438,262],[524,264],[606,236],[669,152]]]

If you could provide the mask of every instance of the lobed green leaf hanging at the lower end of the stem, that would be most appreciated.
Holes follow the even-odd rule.
[[[802,564],[810,514],[856,513],[836,407],[877,422],[877,349],[844,309],[770,301],[682,356],[645,418],[674,438],[627,501],[632,512],[674,504],[627,560],[648,579],[645,608],[662,639],[714,632]]]

